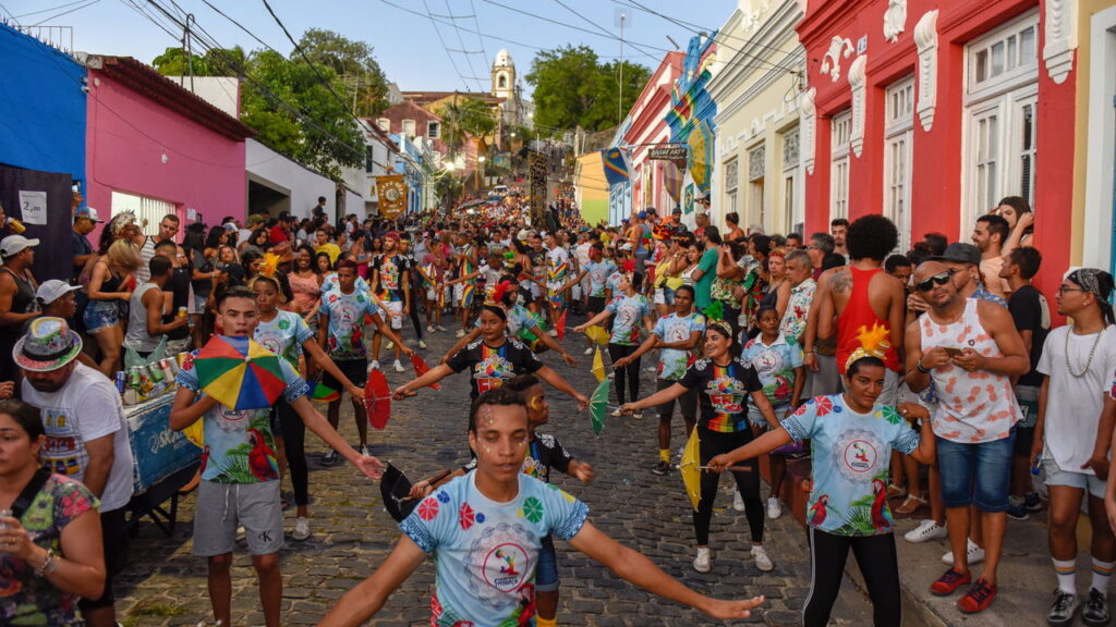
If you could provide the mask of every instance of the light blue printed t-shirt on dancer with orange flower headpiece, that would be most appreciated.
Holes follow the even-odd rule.
[[[892,532],[887,507],[892,450],[908,454],[918,447],[918,432],[895,407],[876,405],[857,414],[844,395],[810,398],[782,421],[796,441],[810,440],[814,491],[806,523],[837,536]]]

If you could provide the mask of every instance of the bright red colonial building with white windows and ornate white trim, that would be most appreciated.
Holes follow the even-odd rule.
[[[977,218],[1019,195],[1036,210],[1041,284],[1058,284],[1072,218],[1071,6],[808,0],[797,27],[807,233],[884,213],[904,250],[930,231],[969,241]]]

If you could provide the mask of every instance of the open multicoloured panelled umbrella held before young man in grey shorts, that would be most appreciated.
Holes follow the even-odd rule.
[[[213,336],[194,369],[201,390],[231,409],[270,407],[287,388],[279,357],[249,337]]]

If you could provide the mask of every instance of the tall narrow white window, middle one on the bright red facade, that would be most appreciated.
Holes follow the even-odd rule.
[[[914,142],[914,77],[887,88],[884,119],[884,215],[899,232],[899,249],[911,245],[911,155]]]

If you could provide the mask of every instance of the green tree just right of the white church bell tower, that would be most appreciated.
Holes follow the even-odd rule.
[[[531,61],[527,81],[535,86],[535,122],[542,128],[602,131],[626,115],[651,78],[644,66],[624,61],[624,102],[619,102],[619,61],[602,64],[588,46],[543,50]]]

